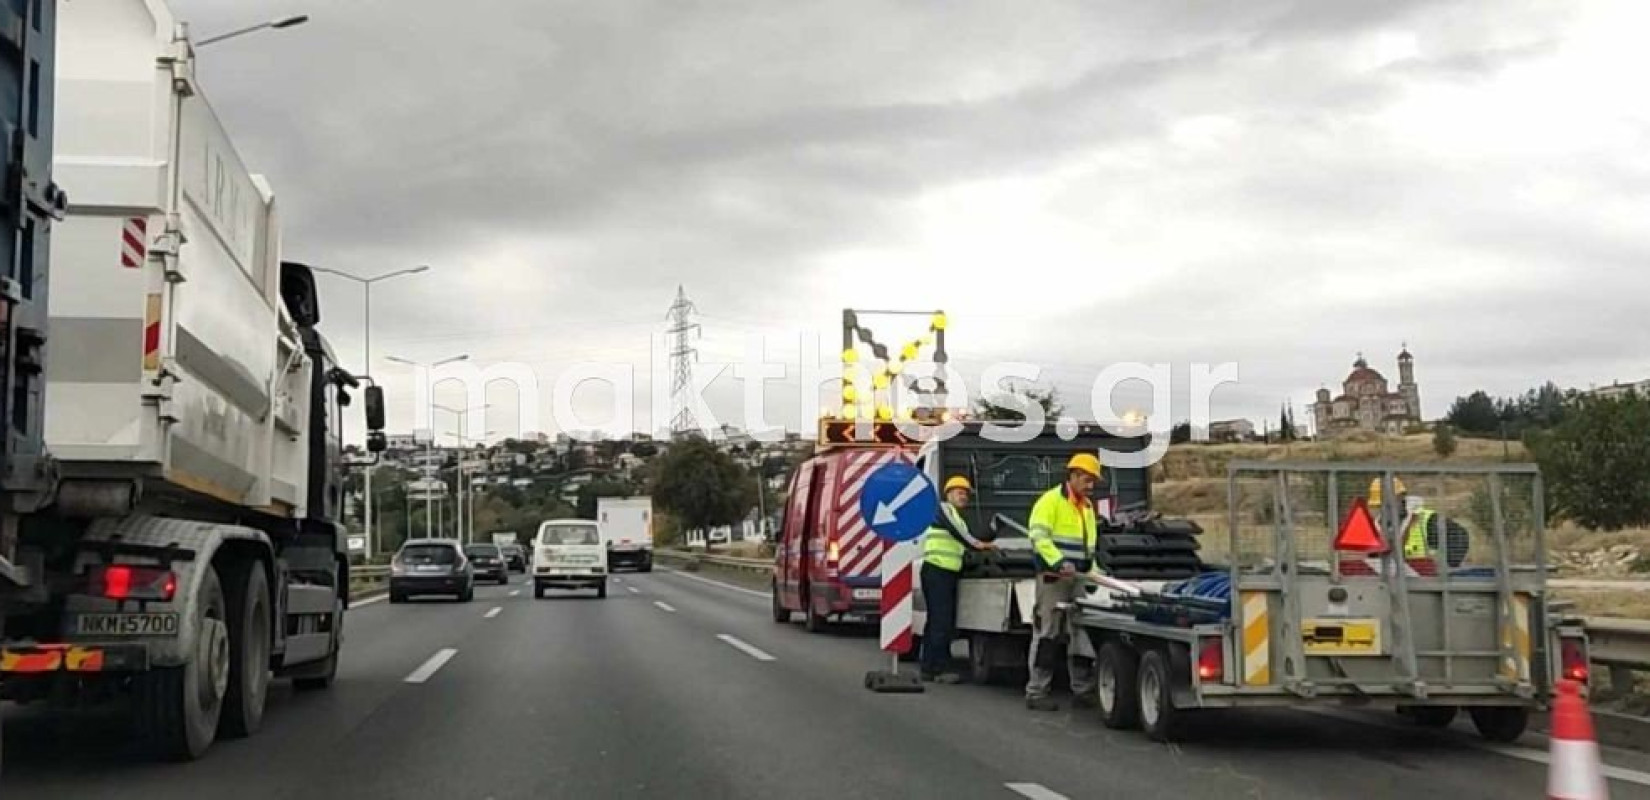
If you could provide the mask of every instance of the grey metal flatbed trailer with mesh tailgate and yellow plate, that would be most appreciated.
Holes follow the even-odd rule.
[[[1470,534],[1402,558],[1394,531],[1414,516],[1389,505],[1378,525],[1391,549],[1336,549],[1338,521],[1358,513],[1351,500],[1371,480],[1394,496],[1399,475],[1412,498],[1432,492],[1419,501],[1437,529],[1460,511]],[[1228,495],[1224,619],[1079,602],[1107,726],[1172,741],[1200,709],[1346,704],[1426,726],[1467,709],[1485,739],[1505,742],[1559,678],[1586,683],[1586,632],[1548,604],[1533,465],[1238,462]]]

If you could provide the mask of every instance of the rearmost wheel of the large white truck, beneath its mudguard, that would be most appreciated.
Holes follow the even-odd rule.
[[[153,668],[132,681],[139,732],[162,759],[195,760],[211,747],[229,689],[226,619],[223,584],[208,566],[195,599],[195,653],[183,666]]]

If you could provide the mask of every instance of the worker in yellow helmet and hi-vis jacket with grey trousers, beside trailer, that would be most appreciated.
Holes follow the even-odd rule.
[[[1031,680],[1026,683],[1026,708],[1056,711],[1048,696],[1054,685],[1054,655],[1076,633],[1071,614],[1061,604],[1082,595],[1082,574],[1097,572],[1094,539],[1097,534],[1091,493],[1101,482],[1101,460],[1079,452],[1066,462],[1066,480],[1044,492],[1031,506],[1031,548],[1041,576],[1036,584],[1036,625],[1031,632]],[[1041,658],[1040,658],[1041,656]],[[1094,706],[1094,665],[1066,648],[1072,703]]]

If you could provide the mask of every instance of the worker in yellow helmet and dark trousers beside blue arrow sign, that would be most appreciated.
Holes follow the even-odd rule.
[[[939,505],[934,525],[922,534],[922,602],[927,617],[922,622],[922,680],[959,683],[962,676],[950,671],[950,640],[957,637],[957,581],[962,574],[962,558],[970,549],[993,549],[969,533],[962,510],[969,506],[974,485],[962,475],[945,480],[945,500]]]

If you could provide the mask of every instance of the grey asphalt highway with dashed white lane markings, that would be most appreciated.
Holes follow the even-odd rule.
[[[1180,746],[1094,713],[1033,714],[1015,688],[871,694],[865,632],[776,625],[766,595],[625,574],[607,600],[371,604],[332,691],[277,685],[264,731],[152,764],[116,711],[7,708],[12,798],[1325,798],[1543,797],[1544,742],[1374,714],[1224,713]],[[515,594],[512,594],[515,592]],[[493,609],[498,609],[497,612]],[[1612,797],[1650,798],[1650,759],[1609,752]]]

